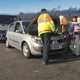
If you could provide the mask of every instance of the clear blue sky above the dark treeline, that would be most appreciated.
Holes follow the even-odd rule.
[[[38,12],[42,8],[80,8],[80,0],[0,0],[0,14]]]

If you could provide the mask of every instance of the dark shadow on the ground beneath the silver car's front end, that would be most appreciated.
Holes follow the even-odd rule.
[[[32,59],[41,59],[41,58],[42,58],[41,55],[32,56]],[[49,56],[48,64],[59,64],[59,63],[77,61],[77,60],[80,60],[80,56],[75,56],[72,53],[58,53]]]

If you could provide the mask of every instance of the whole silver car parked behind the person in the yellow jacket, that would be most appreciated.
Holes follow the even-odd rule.
[[[12,46],[21,50],[26,58],[42,53],[43,44],[38,37],[37,24],[30,25],[30,21],[13,22],[9,26],[6,37],[6,47]],[[66,48],[66,35],[52,33],[50,50],[55,53],[57,50]]]

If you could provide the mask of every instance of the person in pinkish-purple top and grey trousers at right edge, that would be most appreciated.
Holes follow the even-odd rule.
[[[74,16],[72,18],[71,28],[74,37],[73,52],[78,56],[80,55],[80,26],[79,26],[79,19],[77,16]]]

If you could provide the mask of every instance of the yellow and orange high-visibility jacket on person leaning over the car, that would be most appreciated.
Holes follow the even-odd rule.
[[[48,13],[43,13],[38,17],[38,35],[52,32],[55,30],[55,25]]]

